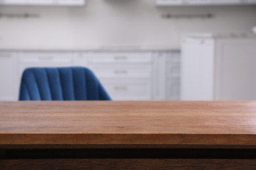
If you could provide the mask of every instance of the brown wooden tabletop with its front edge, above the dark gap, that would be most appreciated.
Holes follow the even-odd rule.
[[[256,101],[0,102],[0,144],[256,146]]]

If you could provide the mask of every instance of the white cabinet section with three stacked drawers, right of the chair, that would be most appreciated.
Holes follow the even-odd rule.
[[[93,52],[89,67],[112,99],[153,99],[150,52]]]

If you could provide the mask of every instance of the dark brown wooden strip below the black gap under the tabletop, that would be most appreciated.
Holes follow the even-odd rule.
[[[0,160],[1,169],[256,169],[255,160]]]

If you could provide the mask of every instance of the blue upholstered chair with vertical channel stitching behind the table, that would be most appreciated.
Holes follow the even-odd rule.
[[[93,72],[84,67],[35,67],[22,75],[20,101],[111,100]]]

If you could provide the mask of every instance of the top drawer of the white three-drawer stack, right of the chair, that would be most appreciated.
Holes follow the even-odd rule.
[[[98,52],[91,54],[90,63],[151,63],[150,52]]]

